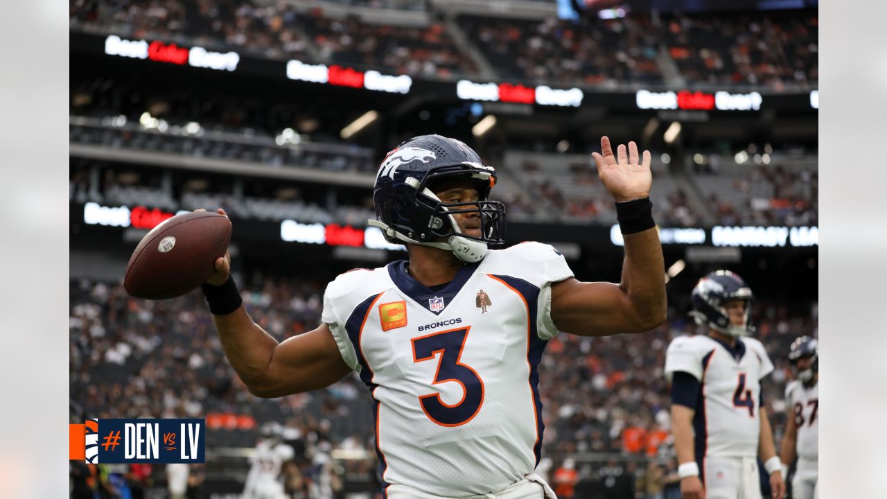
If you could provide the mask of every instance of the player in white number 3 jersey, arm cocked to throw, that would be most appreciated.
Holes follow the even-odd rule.
[[[381,163],[370,220],[409,260],[341,274],[318,329],[278,344],[240,305],[230,257],[216,261],[203,291],[232,367],[262,397],[357,371],[374,401],[386,497],[554,497],[534,473],[546,341],[640,333],[666,315],[650,154],[600,143],[593,157],[625,234],[621,283],[577,281],[547,244],[488,249],[504,242],[504,206],[488,200],[495,170],[459,140],[420,136]]]

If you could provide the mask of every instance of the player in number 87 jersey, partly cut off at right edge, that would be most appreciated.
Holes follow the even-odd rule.
[[[785,387],[789,421],[782,438],[782,463],[795,461],[791,480],[793,499],[817,499],[820,496],[820,345],[811,337],[799,337],[789,349],[789,361],[795,377]]]

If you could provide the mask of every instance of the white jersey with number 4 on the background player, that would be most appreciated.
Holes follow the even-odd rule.
[[[712,337],[696,335],[674,338],[665,354],[670,380],[674,372],[684,371],[700,381],[693,418],[698,463],[710,455],[757,455],[760,380],[773,372],[773,362],[755,338],[738,338],[734,352]]]

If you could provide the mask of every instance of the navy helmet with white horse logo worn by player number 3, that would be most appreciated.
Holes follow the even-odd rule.
[[[478,201],[442,202],[429,187],[444,178],[473,183]],[[388,242],[450,249],[460,260],[476,262],[488,244],[505,242],[505,205],[488,200],[495,184],[496,170],[484,165],[471,147],[457,139],[421,135],[395,147],[382,161],[373,186],[376,219],[369,224],[380,227]],[[471,212],[480,215],[480,236],[462,234],[452,218]]]

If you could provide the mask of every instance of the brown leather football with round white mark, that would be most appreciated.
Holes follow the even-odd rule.
[[[126,265],[130,296],[164,300],[197,289],[216,271],[231,242],[231,220],[209,211],[169,218],[142,238]]]

